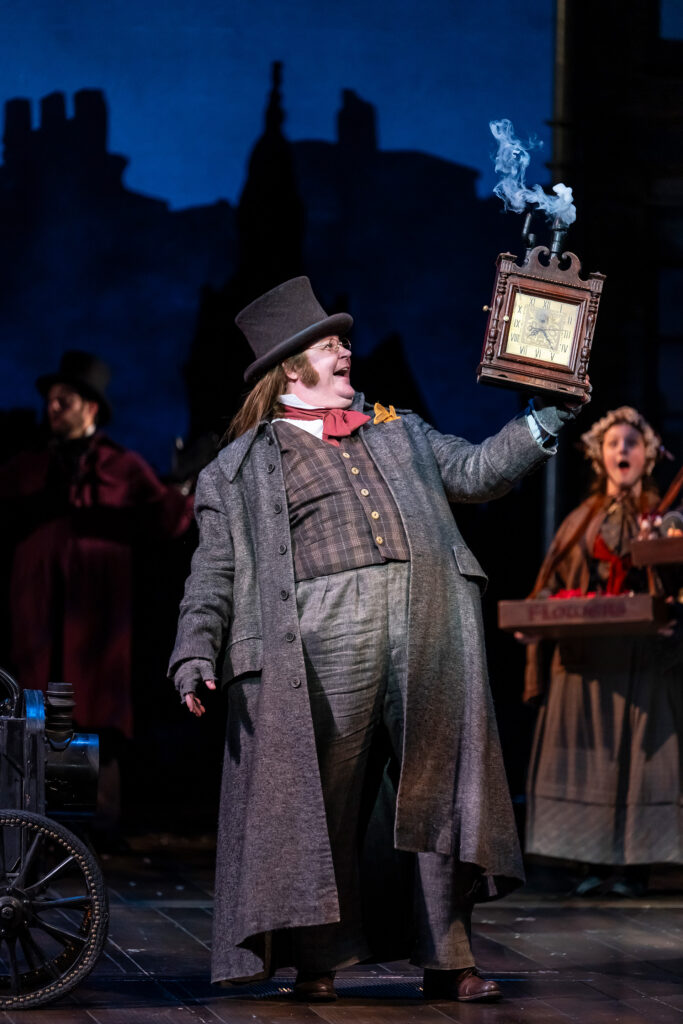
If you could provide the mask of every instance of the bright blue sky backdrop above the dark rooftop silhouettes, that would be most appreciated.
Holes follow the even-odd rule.
[[[173,207],[234,201],[269,67],[285,63],[286,131],[333,139],[341,90],[377,108],[380,146],[495,182],[487,123],[545,140],[552,0],[4,0],[0,98],[103,89],[130,188]],[[543,151],[542,151],[543,154]],[[531,165],[547,181],[543,155]]]

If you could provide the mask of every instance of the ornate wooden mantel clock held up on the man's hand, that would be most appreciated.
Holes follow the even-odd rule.
[[[501,253],[477,381],[582,398],[605,280],[580,276],[573,253],[537,246],[517,263]]]

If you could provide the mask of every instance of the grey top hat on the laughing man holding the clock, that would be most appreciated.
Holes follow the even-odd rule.
[[[328,335],[344,335],[353,326],[348,313],[328,316],[308,278],[292,278],[254,299],[234,317],[256,358],[245,370],[255,384],[266,370]]]

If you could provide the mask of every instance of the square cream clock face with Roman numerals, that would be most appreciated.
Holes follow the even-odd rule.
[[[518,291],[505,351],[568,367],[580,304]]]

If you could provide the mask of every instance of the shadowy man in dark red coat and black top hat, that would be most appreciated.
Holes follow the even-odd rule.
[[[12,668],[28,689],[74,685],[77,722],[100,733],[104,788],[114,765],[116,805],[113,755],[133,726],[132,545],[181,532],[193,500],[102,432],[109,380],[106,364],[82,351],[65,352],[55,373],[38,378],[50,438],[0,468],[0,497],[14,546]]]

